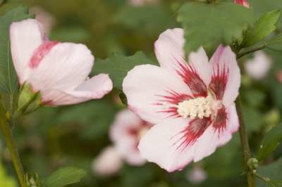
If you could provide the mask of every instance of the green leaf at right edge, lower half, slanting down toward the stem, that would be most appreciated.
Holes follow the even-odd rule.
[[[258,160],[268,157],[282,141],[282,124],[276,125],[263,138],[259,144]]]

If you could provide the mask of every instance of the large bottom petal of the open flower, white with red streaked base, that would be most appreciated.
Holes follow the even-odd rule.
[[[154,125],[141,138],[138,148],[142,157],[168,172],[183,169],[193,160],[197,139],[209,125],[208,121],[198,121],[192,124],[193,120],[176,118]]]

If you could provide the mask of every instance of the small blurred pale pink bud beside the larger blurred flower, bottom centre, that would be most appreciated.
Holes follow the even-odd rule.
[[[92,162],[92,170],[99,176],[116,174],[123,165],[123,160],[114,146],[102,150],[102,153]]]

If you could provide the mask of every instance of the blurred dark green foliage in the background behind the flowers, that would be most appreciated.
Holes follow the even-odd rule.
[[[135,51],[144,51],[154,61],[154,41],[164,30],[180,27],[176,11],[183,2],[164,0],[159,4],[130,6],[125,0],[25,0],[30,7],[40,6],[49,12],[52,22],[49,36],[53,40],[84,43],[96,59],[104,59],[111,53],[130,56]],[[282,8],[281,0],[250,0],[250,4],[257,15]],[[282,30],[282,21],[278,22],[278,30]],[[243,72],[244,117],[253,153],[257,152],[266,131],[281,121],[282,83],[278,82],[277,75],[282,71],[282,52],[279,49],[265,52],[273,61],[266,78],[256,81]],[[116,89],[99,101],[41,108],[18,120],[14,131],[25,169],[31,174],[37,172],[42,179],[61,166],[87,170],[87,177],[73,186],[245,186],[238,133],[226,146],[197,163],[207,172],[207,180],[200,184],[188,180],[193,164],[172,174],[151,163],[143,167],[125,164],[113,176],[94,174],[92,161],[103,148],[111,145],[109,127],[116,112],[125,108],[119,93]],[[282,146],[279,146],[259,171],[274,179],[281,177],[281,155]],[[0,186],[16,186],[11,179],[16,175],[4,146],[0,148],[0,157]]]

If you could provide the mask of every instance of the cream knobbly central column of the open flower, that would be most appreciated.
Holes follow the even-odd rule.
[[[177,112],[184,118],[204,118],[216,116],[216,112],[222,107],[222,101],[217,101],[212,95],[207,97],[192,98],[182,101],[177,105]]]

